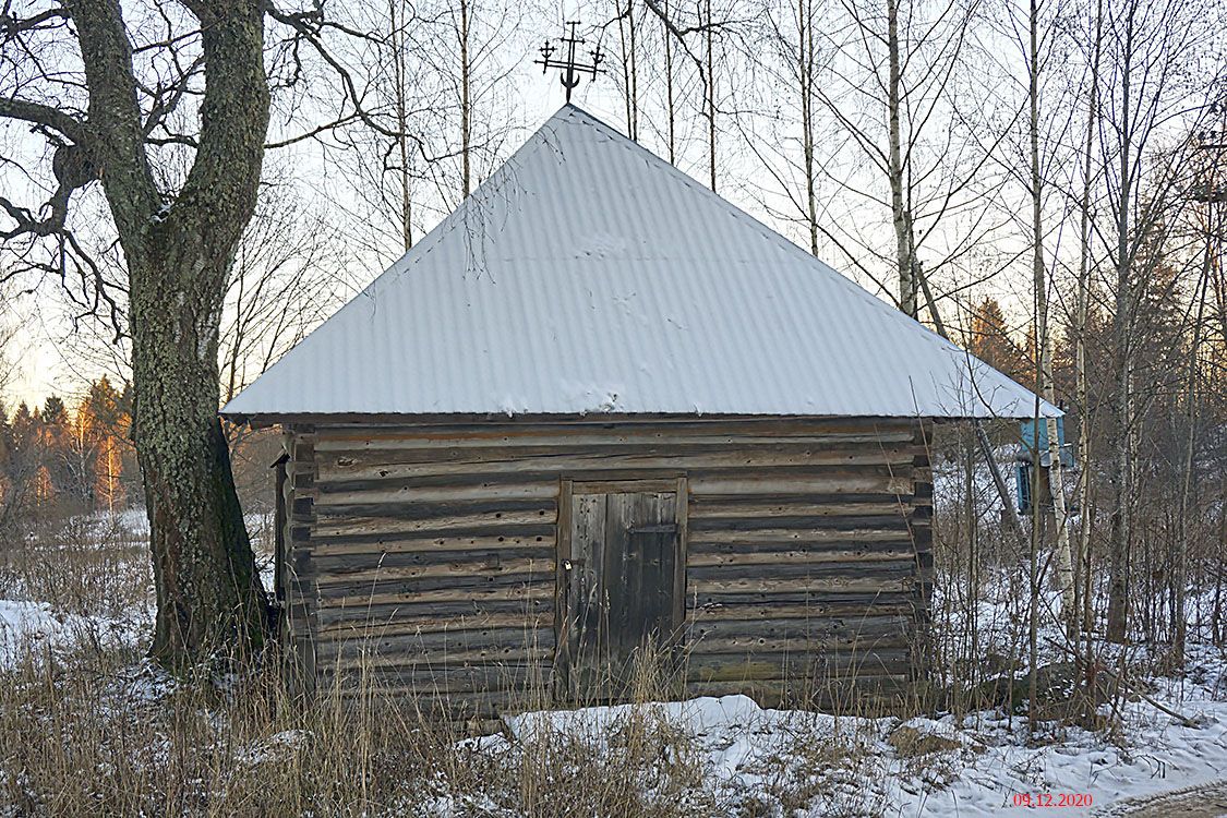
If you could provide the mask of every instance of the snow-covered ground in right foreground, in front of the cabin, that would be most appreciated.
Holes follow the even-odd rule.
[[[836,717],[767,710],[730,695],[524,714],[507,719],[506,733],[465,747],[492,763],[531,753],[548,735],[578,736],[583,746],[600,748],[623,736],[627,722],[654,720],[680,731],[680,747],[698,752],[713,802],[726,805],[729,814],[996,816],[1058,806],[1065,816],[1094,814],[1227,776],[1227,703],[1216,699],[1223,661],[1209,654],[1198,661],[1212,675],[1212,687],[1168,686],[1157,697],[1191,726],[1131,704],[1119,744],[1067,727],[1029,743],[1025,717],[994,713],[962,720]],[[788,813],[782,792],[811,795]],[[485,797],[448,791],[433,808],[459,818]],[[1034,806],[1020,806],[1025,800]]]

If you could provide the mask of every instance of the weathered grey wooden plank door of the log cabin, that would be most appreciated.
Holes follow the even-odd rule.
[[[572,697],[621,695],[644,649],[663,656],[681,625],[685,487],[655,488],[577,483],[568,493],[560,645]]]

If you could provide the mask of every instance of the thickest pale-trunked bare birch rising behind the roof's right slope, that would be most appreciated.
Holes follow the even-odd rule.
[[[822,115],[848,137],[823,162],[848,206],[827,240],[858,269],[890,270],[886,294],[919,318],[934,275],[999,226],[987,166],[1020,112],[999,110],[990,81],[978,87],[969,67],[974,54],[987,61],[978,0],[850,0],[829,13],[820,47],[832,56],[814,85]]]

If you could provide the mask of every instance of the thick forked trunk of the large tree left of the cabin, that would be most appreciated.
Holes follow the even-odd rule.
[[[157,589],[151,655],[171,666],[256,649],[267,600],[217,418],[217,345],[234,249],[255,208],[269,87],[263,5],[189,2],[205,97],[196,158],[160,202],[141,143],[119,4],[71,4],[90,83],[103,188],[129,265],[134,438]]]

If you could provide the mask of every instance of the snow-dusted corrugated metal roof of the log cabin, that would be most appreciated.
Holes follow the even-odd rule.
[[[1034,396],[568,105],[223,410],[600,412],[1026,417]]]

